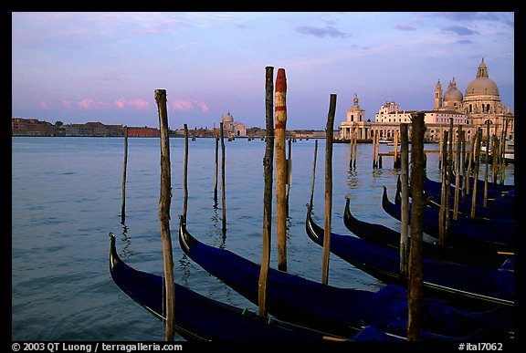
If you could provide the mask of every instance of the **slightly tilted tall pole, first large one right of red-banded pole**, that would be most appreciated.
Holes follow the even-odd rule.
[[[321,264],[321,283],[329,283],[329,255],[331,254],[331,213],[332,213],[332,139],[336,95],[331,94],[327,128],[325,129],[325,233],[323,234],[323,263]]]

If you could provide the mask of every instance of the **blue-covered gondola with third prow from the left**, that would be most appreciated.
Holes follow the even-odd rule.
[[[324,230],[307,212],[306,231],[310,239],[323,246]],[[351,235],[331,233],[331,253],[373,275],[386,284],[406,285],[400,275],[400,253]],[[500,268],[464,265],[422,259],[426,296],[447,300],[450,306],[483,310],[495,306],[514,306],[514,258]]]

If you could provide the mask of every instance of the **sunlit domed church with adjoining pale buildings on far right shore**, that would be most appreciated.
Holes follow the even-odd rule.
[[[438,80],[434,94],[435,104],[431,110],[400,110],[397,103],[387,101],[374,115],[375,121],[365,120],[365,110],[360,108],[355,95],[351,109],[347,109],[347,119],[341,123],[340,140],[350,140],[352,134],[358,140],[372,140],[376,131],[381,140],[393,140],[395,131],[400,130],[400,124],[410,124],[411,114],[417,111],[425,114],[427,142],[440,140],[441,131],[449,130],[451,119],[455,136],[458,136],[458,127],[462,126],[468,141],[479,128],[483,129],[485,138],[488,121],[490,136],[504,133],[507,140],[515,139],[514,114],[509,106],[500,101],[499,88],[489,78],[484,59],[464,95],[457,88],[455,78],[449,82],[446,92]]]

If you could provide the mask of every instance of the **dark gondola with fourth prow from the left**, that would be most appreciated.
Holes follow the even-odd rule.
[[[384,244],[399,251],[400,232],[386,227],[384,224],[358,220],[352,215],[349,205],[350,198],[346,196],[343,223],[352,234],[369,242]],[[504,261],[512,256],[511,254],[501,254],[490,250],[458,249],[427,241],[422,243],[422,251],[424,257],[437,261],[469,265],[492,265],[496,267],[500,267]]]

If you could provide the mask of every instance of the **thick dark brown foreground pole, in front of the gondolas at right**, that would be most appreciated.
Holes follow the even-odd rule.
[[[411,142],[411,246],[409,249],[407,340],[420,340],[423,301],[422,239],[424,221],[424,113],[413,114]]]

